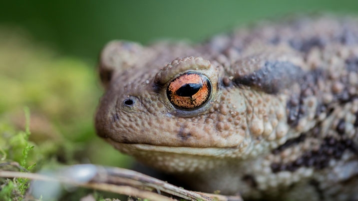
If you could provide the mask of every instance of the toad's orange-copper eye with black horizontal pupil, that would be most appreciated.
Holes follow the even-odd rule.
[[[209,100],[211,89],[210,80],[205,75],[187,72],[170,82],[167,96],[175,107],[192,110]]]

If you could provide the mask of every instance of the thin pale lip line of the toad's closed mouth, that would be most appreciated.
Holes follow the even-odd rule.
[[[148,153],[172,153],[181,155],[195,155],[195,156],[216,156],[216,157],[233,157],[240,155],[242,150],[238,147],[170,147],[149,144],[127,144],[116,142],[110,138],[106,138],[114,148],[121,152],[133,155],[134,152],[148,152]]]

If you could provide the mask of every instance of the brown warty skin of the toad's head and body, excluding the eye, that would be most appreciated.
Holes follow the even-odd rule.
[[[188,72],[210,80],[207,100],[190,95],[210,89],[196,75],[167,94]],[[358,200],[357,19],[266,22],[197,45],[112,41],[100,75],[98,135],[194,190]]]

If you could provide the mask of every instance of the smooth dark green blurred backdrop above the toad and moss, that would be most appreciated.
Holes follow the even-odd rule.
[[[235,25],[290,13],[357,13],[357,0],[2,1],[0,24],[23,27],[63,54],[94,62],[114,38],[202,40]]]

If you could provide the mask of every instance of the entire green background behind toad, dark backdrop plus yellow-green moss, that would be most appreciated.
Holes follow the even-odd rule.
[[[36,163],[31,171],[76,163],[130,167],[133,160],[93,128],[103,93],[97,57],[112,39],[196,42],[261,19],[316,12],[357,15],[358,0],[3,0],[0,163]],[[23,107],[30,110],[28,142]]]

